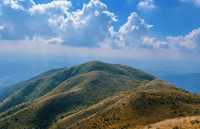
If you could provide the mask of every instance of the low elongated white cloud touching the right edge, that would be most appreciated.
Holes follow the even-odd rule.
[[[167,36],[165,39],[147,36],[143,44],[153,48],[171,49],[178,51],[200,51],[200,28],[182,36]]]

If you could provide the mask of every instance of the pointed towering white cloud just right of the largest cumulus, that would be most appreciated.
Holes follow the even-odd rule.
[[[116,34],[117,46],[141,47],[142,40],[151,27],[153,26],[147,24],[137,13],[131,13],[127,22],[121,26]]]

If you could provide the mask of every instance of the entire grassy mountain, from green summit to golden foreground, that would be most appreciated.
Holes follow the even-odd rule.
[[[50,70],[0,92],[0,129],[198,129],[199,116],[199,95],[99,61]]]

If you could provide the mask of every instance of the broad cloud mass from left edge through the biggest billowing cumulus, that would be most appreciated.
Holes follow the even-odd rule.
[[[16,11],[11,4],[23,7],[23,10]],[[117,21],[115,14],[100,0],[90,0],[81,9],[73,11],[68,0],[44,4],[17,0],[0,5],[3,12],[0,24],[7,24],[7,29],[0,32],[2,39],[60,37],[67,45],[98,47],[111,35],[112,23]]]

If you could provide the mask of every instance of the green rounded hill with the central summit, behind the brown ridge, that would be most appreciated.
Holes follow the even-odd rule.
[[[11,109],[0,115],[0,128],[45,129],[61,117],[153,79],[137,69],[101,62],[49,71],[23,82],[1,103],[2,110]]]

